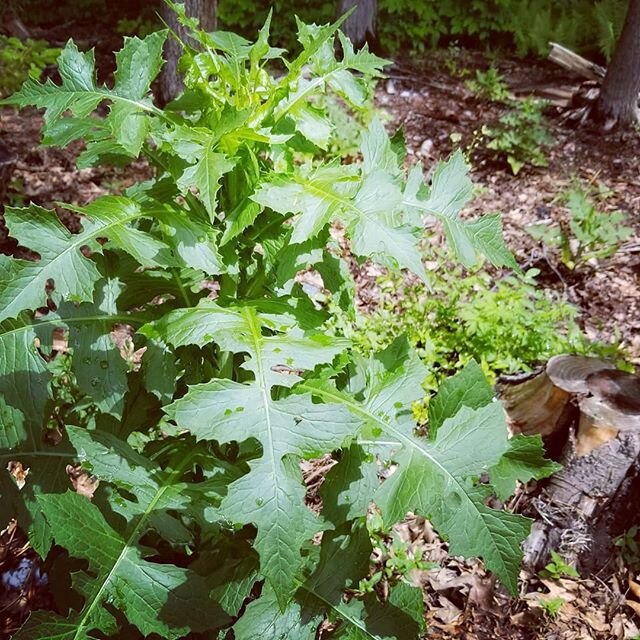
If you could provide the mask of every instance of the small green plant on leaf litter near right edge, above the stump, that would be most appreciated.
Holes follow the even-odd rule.
[[[627,216],[622,211],[598,210],[596,195],[593,189],[576,185],[562,196],[569,212],[567,223],[537,223],[527,227],[531,237],[559,252],[560,261],[570,271],[593,266],[598,260],[615,255],[633,233],[625,225]]]

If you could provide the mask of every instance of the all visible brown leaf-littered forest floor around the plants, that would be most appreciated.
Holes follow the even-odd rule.
[[[579,84],[579,79],[547,63],[499,59],[495,64],[513,90],[525,85]],[[420,64],[398,62],[389,79],[380,83],[376,104],[389,114],[390,127],[404,127],[410,156],[421,161],[427,172],[455,148],[471,144],[483,124],[505,112],[504,105],[478,99],[465,84],[475,69],[488,66],[480,54],[458,55],[455,64],[449,65],[443,56],[434,55]],[[500,212],[519,264],[539,268],[541,284],[566,294],[578,307],[590,337],[618,339],[629,359],[640,365],[640,135],[602,137],[594,131],[573,130],[560,122],[554,108],[548,110],[547,118],[554,140],[545,152],[547,167],[525,167],[514,176],[486,150],[480,147],[474,152],[472,178],[478,194],[463,215]],[[74,160],[79,147],[40,148],[41,125],[35,111],[0,110],[0,144],[18,158],[8,194],[11,204],[86,204],[148,176],[148,167],[142,163],[126,170],[78,171]],[[577,274],[567,272],[556,255],[525,231],[527,224],[542,219],[566,222],[567,210],[558,196],[576,178],[610,190],[604,210],[626,212],[635,230],[616,255]],[[0,230],[0,251],[12,250],[15,247]],[[368,277],[365,267],[359,275],[362,306],[374,305],[375,274]],[[618,556],[599,575],[584,578],[551,580],[523,573],[520,597],[510,598],[480,563],[445,559],[446,547],[428,525],[409,522],[404,535],[426,550],[429,559],[442,562],[440,570],[416,576],[428,604],[429,638],[622,640],[640,633],[638,574]],[[540,603],[557,598],[561,606],[555,613],[553,604],[545,609]]]

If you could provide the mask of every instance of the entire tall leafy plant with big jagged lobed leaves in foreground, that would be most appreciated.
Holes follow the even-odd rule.
[[[411,403],[427,371],[407,342],[359,356],[296,281],[313,268],[353,308],[337,228],[359,259],[426,278],[423,213],[463,263],[513,267],[499,218],[458,217],[471,196],[461,155],[427,185],[419,167],[405,175],[400,140],[376,120],[360,160],[324,159],[320,98],[359,109],[384,65],[338,24],[299,23],[301,52],[286,59],[268,21],[251,43],[176,10],[194,48],[164,110],[150,86],[165,32],[125,39],[113,87],[69,42],[60,84],[28,80],[5,101],[44,109],[45,145],[84,140],[79,166],[143,155],[155,170],[123,195],[66,205],[75,234],[55,211],[6,211],[37,259],[0,256],[0,462],[30,469],[24,486],[3,472],[0,496],[46,558],[55,601],[14,637],[104,637],[128,621],[160,638],[297,640],[329,621],[325,636],[416,638],[419,589],[355,591],[370,570],[371,503],[386,527],[409,511],[430,518],[451,553],[481,557],[515,593],[530,522],[487,499],[553,471],[540,440],[508,438],[473,363],[443,384],[419,436]],[[265,69],[275,60],[278,79]],[[72,383],[75,401],[54,403]],[[314,512],[300,461],[326,453],[339,462]],[[69,489],[74,461],[100,481],[92,500]]]

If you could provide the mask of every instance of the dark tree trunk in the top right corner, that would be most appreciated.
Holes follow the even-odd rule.
[[[620,40],[595,104],[594,119],[603,123],[605,131],[633,125],[640,120],[639,93],[640,0],[629,0]]]

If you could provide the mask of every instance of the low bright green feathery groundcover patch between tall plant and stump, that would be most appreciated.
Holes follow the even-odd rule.
[[[428,257],[447,262],[441,251],[430,250]],[[537,287],[537,273],[496,280],[482,269],[454,267],[430,273],[428,287],[385,275],[378,281],[378,308],[341,330],[365,353],[406,335],[429,371],[428,394],[472,360],[493,383],[502,373],[530,370],[559,353],[613,354],[614,347],[587,340],[573,306]]]

